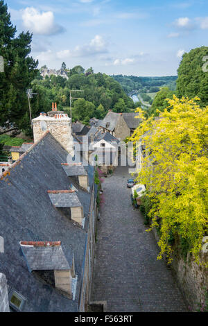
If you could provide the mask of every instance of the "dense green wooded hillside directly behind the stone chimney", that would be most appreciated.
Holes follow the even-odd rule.
[[[82,90],[83,92],[73,92],[73,97],[85,100],[72,101],[73,121],[79,119],[86,123],[92,117],[103,119],[107,111],[114,107],[116,112],[135,110],[132,99],[113,78],[101,73],[94,74],[92,67],[87,69],[86,74],[84,72],[83,67],[76,66],[70,70],[68,80],[55,75],[50,78],[46,76],[44,80],[35,78],[32,83],[33,92],[39,96],[34,96],[31,100],[32,116],[37,116],[38,111],[51,110],[52,102],[56,102],[59,109],[69,110],[69,89]],[[80,103],[84,104],[85,110],[80,108]]]

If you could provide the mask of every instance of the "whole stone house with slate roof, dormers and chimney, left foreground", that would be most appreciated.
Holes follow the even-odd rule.
[[[0,272],[10,311],[87,311],[89,303],[94,167],[72,162],[71,120],[55,114],[33,120],[35,144],[0,176]]]

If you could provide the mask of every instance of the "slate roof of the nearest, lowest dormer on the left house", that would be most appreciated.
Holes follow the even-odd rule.
[[[21,246],[21,250],[27,261],[29,271],[69,270],[72,265],[72,255],[68,262],[61,246],[49,248]]]

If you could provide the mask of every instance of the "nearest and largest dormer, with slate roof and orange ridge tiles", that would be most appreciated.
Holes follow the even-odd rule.
[[[67,258],[64,255],[60,241],[21,241],[21,250],[28,271],[35,277],[42,279],[49,285],[68,298],[73,299],[73,278],[76,279],[74,270],[74,258],[67,252]],[[15,304],[20,304],[20,298],[16,295],[13,298]]]

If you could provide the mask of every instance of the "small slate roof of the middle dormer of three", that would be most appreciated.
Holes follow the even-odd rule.
[[[67,194],[49,194],[51,203],[55,207],[81,207],[83,206],[80,203],[80,200],[76,192],[67,193]]]

